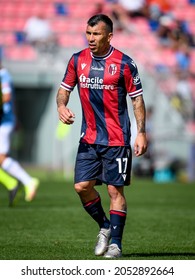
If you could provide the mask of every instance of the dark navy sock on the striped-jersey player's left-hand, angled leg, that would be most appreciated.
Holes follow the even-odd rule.
[[[110,227],[110,221],[107,219],[102,208],[100,196],[98,196],[94,200],[84,203],[83,207],[87,211],[87,213],[98,223],[100,228]]]

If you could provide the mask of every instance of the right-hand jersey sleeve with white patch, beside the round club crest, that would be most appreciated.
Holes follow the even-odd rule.
[[[125,86],[128,95],[133,98],[143,94],[142,84],[138,73],[137,65],[130,59],[124,68]]]

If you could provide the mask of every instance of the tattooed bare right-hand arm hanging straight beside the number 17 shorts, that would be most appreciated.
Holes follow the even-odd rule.
[[[147,150],[147,139],[146,139],[146,109],[143,100],[143,96],[139,95],[132,98],[133,112],[137,123],[137,136],[134,143],[135,156],[143,155]]]

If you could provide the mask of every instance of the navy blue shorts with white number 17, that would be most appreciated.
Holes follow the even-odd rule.
[[[75,164],[75,183],[96,180],[97,185],[130,185],[131,147],[80,143]]]

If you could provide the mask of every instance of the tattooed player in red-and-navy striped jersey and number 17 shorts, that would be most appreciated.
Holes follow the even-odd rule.
[[[124,186],[130,184],[132,153],[127,95],[137,121],[134,153],[146,152],[145,105],[137,66],[111,44],[113,22],[104,14],[92,16],[86,27],[88,48],[72,55],[58,90],[59,119],[73,124],[67,107],[78,86],[82,105],[81,138],[75,165],[75,190],[84,209],[98,223],[95,255],[122,256],[122,236],[127,215]],[[107,185],[110,217],[103,210],[95,185]]]

